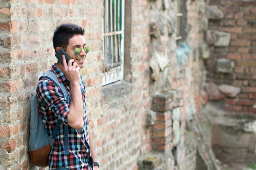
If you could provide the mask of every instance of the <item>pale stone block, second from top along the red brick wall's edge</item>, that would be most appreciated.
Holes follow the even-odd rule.
[[[231,35],[230,33],[220,31],[207,31],[207,43],[213,46],[229,46]]]

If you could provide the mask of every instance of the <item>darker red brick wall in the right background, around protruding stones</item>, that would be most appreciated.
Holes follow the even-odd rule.
[[[231,34],[229,46],[212,48],[207,61],[207,81],[215,84],[229,84],[240,87],[241,92],[235,98],[227,98],[227,109],[232,114],[245,113],[255,115],[256,99],[256,2],[234,0],[210,0],[224,13],[224,18],[209,21],[209,29],[225,31]],[[233,72],[218,74],[215,63],[219,58],[234,62]]]

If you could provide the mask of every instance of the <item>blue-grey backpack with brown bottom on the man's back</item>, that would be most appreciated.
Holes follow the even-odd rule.
[[[47,77],[52,80],[56,86],[61,88],[62,94],[70,101],[70,95],[67,92],[64,84],[58,81],[56,74],[53,71],[47,71],[40,78]],[[56,127],[52,134],[52,137],[47,135],[45,126],[38,112],[37,97],[36,94],[31,100],[30,109],[30,137],[29,137],[29,155],[31,162],[39,167],[47,167],[49,162],[49,155],[54,144],[54,140],[61,126],[61,121],[58,120]],[[65,155],[68,155],[68,127],[64,125],[64,150]]]

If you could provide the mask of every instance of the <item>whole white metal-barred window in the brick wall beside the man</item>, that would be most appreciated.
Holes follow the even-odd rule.
[[[104,0],[102,85],[124,77],[124,0]]]

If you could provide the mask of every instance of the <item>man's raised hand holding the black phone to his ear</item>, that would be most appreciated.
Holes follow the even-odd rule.
[[[70,84],[76,84],[80,82],[80,67],[77,65],[76,62],[74,62],[74,59],[70,59],[68,61],[68,65],[66,62],[65,55],[62,55],[62,60],[63,60],[63,73],[67,77],[67,79],[70,81]],[[73,65],[72,65],[73,63]]]

